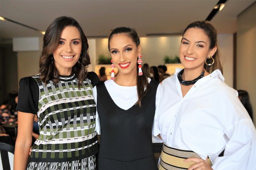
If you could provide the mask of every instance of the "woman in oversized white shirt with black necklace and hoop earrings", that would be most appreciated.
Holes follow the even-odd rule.
[[[162,82],[159,170],[256,170],[255,126],[224,83],[216,29],[189,24],[179,56],[184,69]]]

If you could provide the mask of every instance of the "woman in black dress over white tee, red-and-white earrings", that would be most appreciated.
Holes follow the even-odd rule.
[[[156,170],[152,126],[163,89],[142,74],[141,47],[133,29],[114,29],[109,51],[112,68],[119,72],[93,89],[101,135],[97,170]]]

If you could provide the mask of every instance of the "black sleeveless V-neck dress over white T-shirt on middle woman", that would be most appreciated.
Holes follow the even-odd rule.
[[[101,124],[97,170],[156,170],[152,124],[158,84],[151,80],[141,107],[133,105],[128,110],[114,103],[104,83],[96,86]]]

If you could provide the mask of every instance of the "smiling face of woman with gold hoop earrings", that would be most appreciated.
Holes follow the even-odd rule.
[[[179,56],[186,69],[202,72],[205,59],[213,56],[217,47],[210,49],[210,39],[200,28],[189,28],[181,40]]]

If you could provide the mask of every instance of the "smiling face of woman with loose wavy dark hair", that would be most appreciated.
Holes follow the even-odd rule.
[[[53,51],[54,64],[60,75],[70,75],[82,51],[80,32],[75,26],[63,29],[58,47]]]

